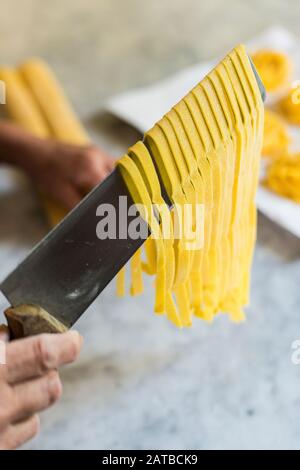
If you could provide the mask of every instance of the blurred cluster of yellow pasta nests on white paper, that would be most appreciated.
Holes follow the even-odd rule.
[[[281,52],[261,49],[252,59],[271,97],[265,111],[263,184],[300,204],[300,151],[292,150],[293,128],[300,126],[300,82],[291,59]]]

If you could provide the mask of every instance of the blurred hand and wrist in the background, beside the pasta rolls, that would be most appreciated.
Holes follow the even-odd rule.
[[[0,162],[23,169],[45,195],[72,209],[108,176],[114,160],[102,149],[33,137],[17,126],[0,123]]]

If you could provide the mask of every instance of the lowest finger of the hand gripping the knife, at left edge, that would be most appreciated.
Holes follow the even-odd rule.
[[[40,429],[38,415],[33,415],[25,421],[11,425],[0,436],[0,450],[10,450],[20,447],[35,437]]]

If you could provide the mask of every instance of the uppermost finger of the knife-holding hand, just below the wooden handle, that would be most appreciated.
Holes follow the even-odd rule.
[[[77,331],[44,334],[11,342],[7,347],[7,382],[14,384],[40,377],[75,361],[83,343]]]

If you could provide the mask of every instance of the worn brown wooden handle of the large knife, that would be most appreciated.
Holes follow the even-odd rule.
[[[68,327],[37,305],[18,305],[5,310],[11,339],[40,333],[64,333]]]

